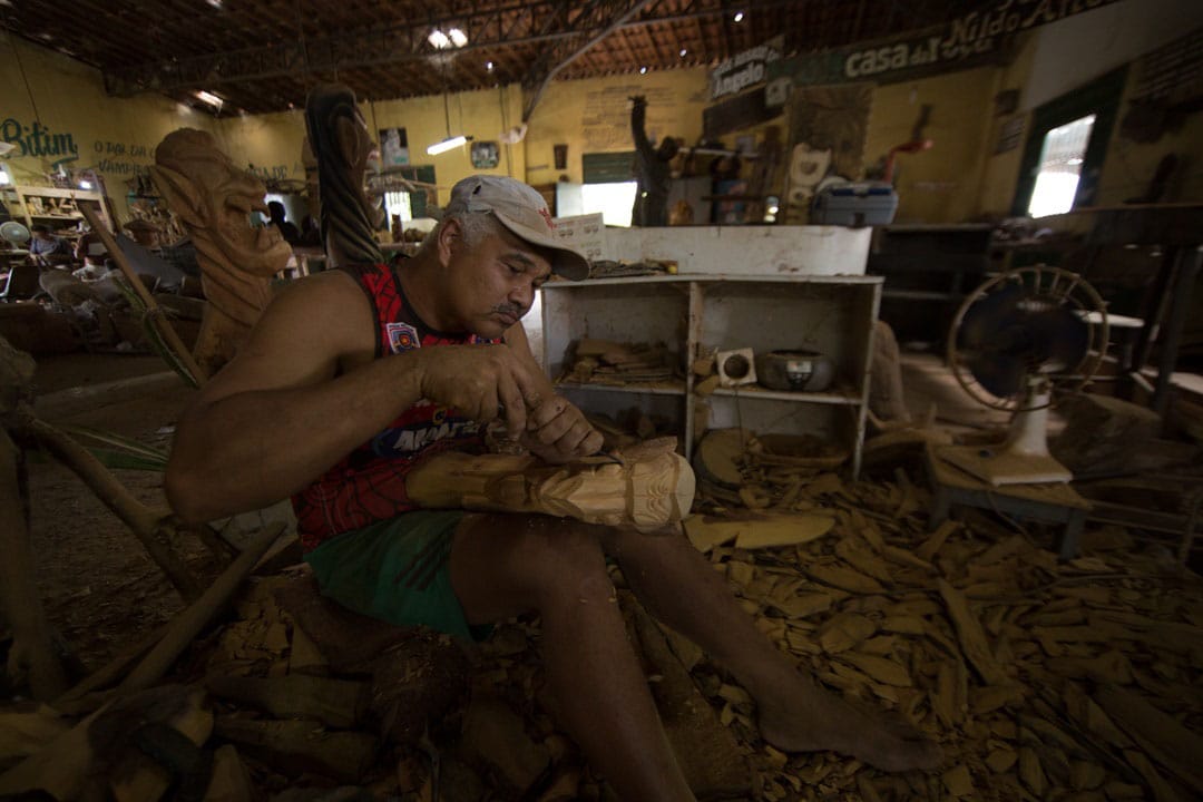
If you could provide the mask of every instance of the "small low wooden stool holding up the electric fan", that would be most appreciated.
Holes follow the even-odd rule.
[[[1062,523],[1065,531],[1059,547],[1061,559],[1078,557],[1078,540],[1090,511],[1090,501],[1078,495],[1068,483],[995,487],[941,459],[931,444],[928,445],[924,462],[935,492],[931,504],[932,529],[948,518],[952,505],[964,504],[1018,518]]]

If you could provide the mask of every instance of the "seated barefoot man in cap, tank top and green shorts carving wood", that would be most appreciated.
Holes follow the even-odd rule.
[[[657,618],[757,699],[771,743],[887,770],[934,766],[936,747],[888,731],[799,673],[677,531],[415,509],[407,479],[432,455],[479,447],[481,427],[498,417],[546,463],[598,451],[600,435],[553,392],[520,323],[553,273],[587,268],[556,240],[529,186],[491,176],[457,183],[413,259],[345,265],[272,303],[179,422],[172,506],[206,521],[292,495],[322,592],[392,623],[470,638],[538,612],[561,723],[623,798],[694,797],[627,640],[606,554]],[[486,497],[506,493],[479,485]]]

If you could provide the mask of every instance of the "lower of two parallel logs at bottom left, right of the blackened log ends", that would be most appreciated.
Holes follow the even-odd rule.
[[[219,715],[214,735],[290,777],[316,773],[339,782],[363,778],[379,741],[365,732],[332,731],[312,721],[262,721]]]

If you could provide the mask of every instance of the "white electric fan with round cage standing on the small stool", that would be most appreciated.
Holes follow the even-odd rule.
[[[1012,410],[1002,446],[946,446],[944,461],[994,486],[1068,482],[1048,451],[1048,410],[1079,392],[1107,351],[1107,310],[1078,274],[1021,267],[978,286],[948,335],[948,364],[978,403]]]

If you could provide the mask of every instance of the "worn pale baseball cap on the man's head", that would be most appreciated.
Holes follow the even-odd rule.
[[[551,272],[565,279],[589,275],[589,261],[558,242],[547,203],[534,189],[506,176],[470,176],[451,188],[444,215],[492,212],[503,226],[532,245],[552,251]]]

